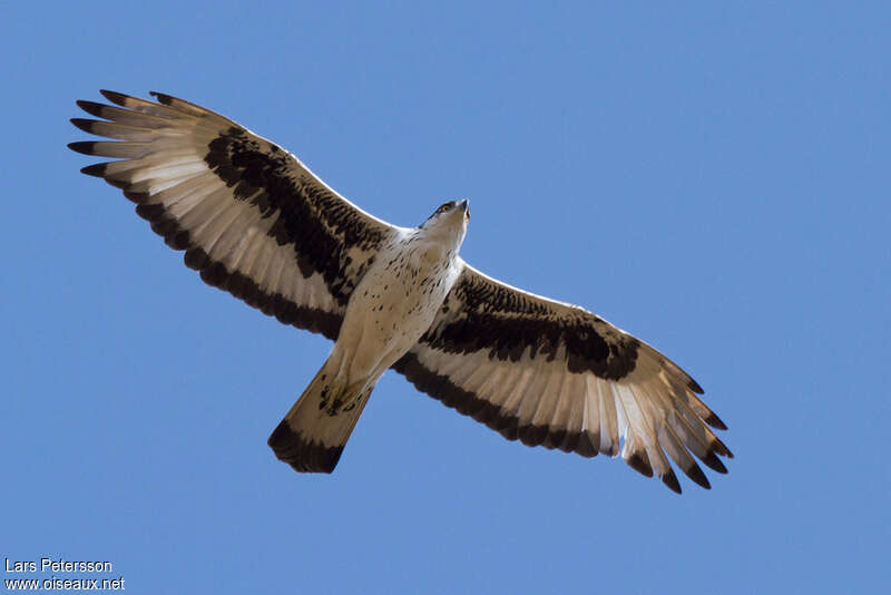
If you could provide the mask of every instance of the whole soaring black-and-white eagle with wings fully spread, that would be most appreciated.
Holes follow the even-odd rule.
[[[508,440],[623,459],[676,492],[669,459],[704,488],[696,458],[726,474],[733,453],[703,389],[647,343],[576,305],[497,281],[459,255],[468,201],[418,227],[360,209],[294,155],[176,97],[101,90],[77,101],[115,160],[82,173],[136,213],[209,285],[334,341],[268,439],[297,471],[331,472],[389,369]],[[110,140],[109,140],[110,139]],[[695,457],[695,458],[694,458]]]

